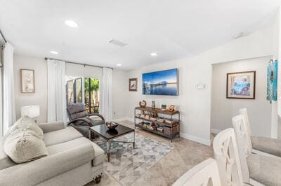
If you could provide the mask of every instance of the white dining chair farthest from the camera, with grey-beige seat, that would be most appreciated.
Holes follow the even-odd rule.
[[[247,143],[251,152],[258,155],[281,157],[281,140],[254,136],[251,133],[251,125],[249,123],[247,108],[241,108],[239,113],[244,117],[244,124],[246,127],[245,132],[247,132],[247,135],[249,136],[249,138],[247,138]]]

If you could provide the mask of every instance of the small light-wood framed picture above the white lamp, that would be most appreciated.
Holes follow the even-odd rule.
[[[22,93],[34,93],[34,70],[20,69]]]

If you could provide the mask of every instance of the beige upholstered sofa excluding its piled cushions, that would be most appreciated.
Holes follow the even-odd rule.
[[[0,145],[0,185],[85,185],[103,173],[104,151],[61,122],[39,124],[48,156],[15,164]]]

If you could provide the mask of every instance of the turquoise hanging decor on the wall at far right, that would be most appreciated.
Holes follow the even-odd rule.
[[[266,99],[270,101],[277,101],[277,67],[278,62],[270,59],[268,62],[268,85]]]

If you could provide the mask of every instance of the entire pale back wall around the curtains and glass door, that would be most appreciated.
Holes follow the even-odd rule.
[[[22,94],[20,92],[20,69],[34,69],[35,93]],[[39,122],[47,120],[47,64],[44,58],[30,57],[25,55],[14,55],[15,73],[15,113],[17,119],[20,118],[20,108],[22,106],[39,105]],[[85,78],[99,78],[102,80],[103,71],[100,68],[79,64],[66,64],[65,75]],[[113,119],[125,117],[125,72],[113,69],[112,71],[112,107]]]

